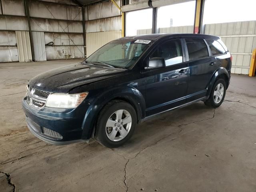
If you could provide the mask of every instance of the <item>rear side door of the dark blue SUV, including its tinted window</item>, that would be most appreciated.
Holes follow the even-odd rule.
[[[216,58],[210,55],[206,41],[202,38],[186,38],[186,54],[189,60],[187,101],[206,96],[206,87],[216,70]]]

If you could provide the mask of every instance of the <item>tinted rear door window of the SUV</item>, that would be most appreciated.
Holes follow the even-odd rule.
[[[186,39],[189,60],[208,57],[208,48],[202,39]]]

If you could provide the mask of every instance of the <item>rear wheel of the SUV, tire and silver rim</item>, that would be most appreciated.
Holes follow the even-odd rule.
[[[207,106],[217,108],[222,104],[225,98],[225,95],[226,95],[226,82],[224,81],[224,79],[217,79],[214,85],[212,86],[210,97],[208,98],[208,100],[204,102],[204,104]]]

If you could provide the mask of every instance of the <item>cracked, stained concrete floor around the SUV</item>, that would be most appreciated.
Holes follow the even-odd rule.
[[[219,108],[199,102],[166,112],[117,149],[46,144],[26,127],[25,86],[78,61],[0,64],[1,192],[256,191],[256,78],[233,74]]]

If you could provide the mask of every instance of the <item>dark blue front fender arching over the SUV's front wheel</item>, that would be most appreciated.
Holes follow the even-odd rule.
[[[84,121],[82,124],[83,134],[82,139],[91,138],[94,132],[95,121],[97,120],[100,110],[108,103],[110,100],[118,99],[126,100],[134,106],[138,122],[146,115],[146,102],[142,93],[132,86],[119,86],[112,89],[105,90],[101,92],[91,103],[86,115],[84,116]]]

